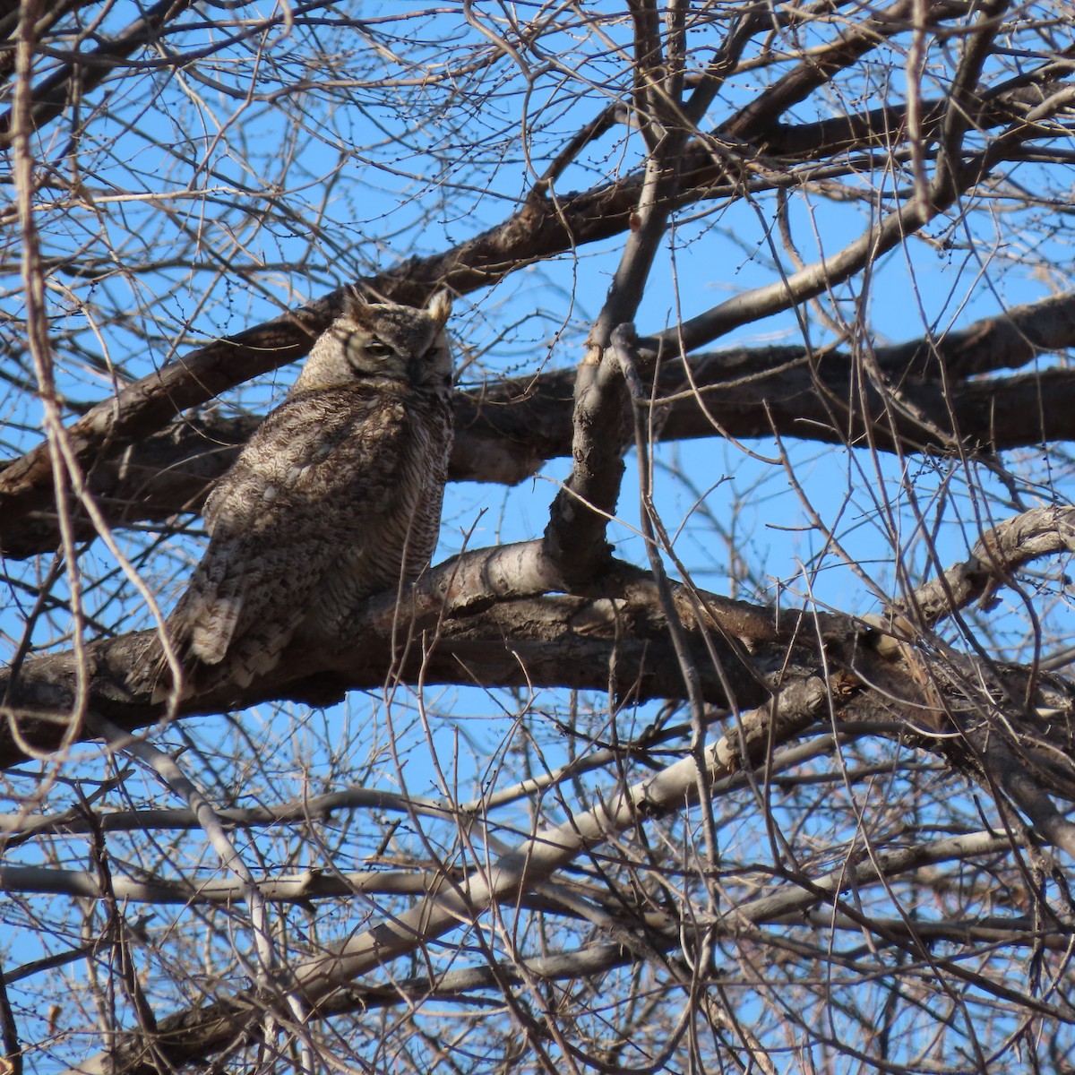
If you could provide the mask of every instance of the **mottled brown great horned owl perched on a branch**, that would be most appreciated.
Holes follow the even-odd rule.
[[[209,547],[168,617],[184,693],[245,687],[292,641],[429,562],[452,449],[452,353],[426,310],[350,295],[205,503]],[[157,697],[170,675],[160,662]],[[163,688],[163,689],[162,689]]]

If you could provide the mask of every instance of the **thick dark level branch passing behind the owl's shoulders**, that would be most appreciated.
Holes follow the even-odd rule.
[[[653,366],[658,339],[643,340]],[[1075,371],[1052,369],[1003,379],[964,379],[1022,366],[1075,346],[1075,295],[1016,306],[934,339],[874,350],[889,376],[888,407],[871,387],[852,384],[854,358],[829,352],[811,361],[800,347],[740,348],[696,355],[685,376],[663,362],[657,399],[665,442],[727,434],[857,444],[869,434],[879,450],[995,452],[1075,439]],[[691,386],[700,390],[693,395]],[[514,484],[572,443],[572,371],[503,381],[455,399],[454,481]],[[902,404],[902,405],[901,405]],[[866,415],[885,415],[877,420]],[[259,418],[187,415],[161,432],[106,456],[90,472],[90,491],[112,526],[164,522],[198,511],[212,484],[231,465]],[[893,432],[899,441],[893,440]],[[75,512],[74,532],[92,538]],[[0,513],[0,549],[23,558],[55,549],[56,513],[48,503],[20,515]]]

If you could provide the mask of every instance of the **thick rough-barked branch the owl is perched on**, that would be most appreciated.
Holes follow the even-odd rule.
[[[1036,533],[1043,528],[1031,529]],[[290,650],[249,688],[221,688],[190,699],[178,715],[281,698],[327,704],[349,689],[419,680],[427,686],[611,689],[621,702],[682,699],[683,659],[692,662],[703,699],[727,708],[760,704],[774,691],[782,694],[828,660],[847,669],[855,683],[877,688],[876,693],[860,691],[849,712],[860,712],[878,728],[892,727],[894,717],[895,728],[906,729],[957,770],[988,787],[1008,789],[1031,817],[1045,819],[1045,814],[1020,790],[1028,773],[1036,774],[1049,793],[1075,801],[1075,763],[1065,731],[1075,691],[1056,676],[978,666],[956,655],[947,663],[923,663],[914,637],[892,646],[883,634],[846,617],[791,611],[777,618],[766,608],[694,591],[697,600],[686,591],[682,601],[676,598],[688,634],[685,656],[683,645],[677,653],[671,643],[666,611],[645,573],[625,565],[620,578],[607,575],[603,585],[615,585],[617,596],[520,597],[555,579],[545,576],[546,564],[539,542],[467,554],[431,571],[402,606],[393,593],[372,601],[348,629],[347,648],[335,654]],[[818,637],[827,656],[817,649]],[[141,680],[155,644],[153,632],[142,632],[88,647],[91,715],[125,731],[160,719],[162,707],[150,703],[150,689]],[[0,689],[8,699],[0,764],[18,762],[27,747],[47,751],[88,734],[71,728],[67,716],[77,693],[72,655],[29,661],[13,684],[10,676],[0,677]],[[1019,712],[995,725],[1013,704]],[[1066,716],[1058,721],[1056,714]],[[951,725],[960,729],[958,737],[948,734]],[[1009,728],[1019,729],[1015,739]],[[998,754],[1001,741],[1010,748]]]

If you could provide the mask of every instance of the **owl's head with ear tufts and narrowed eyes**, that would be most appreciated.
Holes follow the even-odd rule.
[[[444,326],[452,299],[438,291],[425,310],[367,302],[348,292],[344,312],[317,338],[291,392],[355,381],[399,381],[411,388],[452,387],[452,346]]]

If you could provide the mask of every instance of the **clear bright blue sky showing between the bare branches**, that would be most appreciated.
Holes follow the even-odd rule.
[[[369,5],[363,11],[372,17],[393,6]],[[608,6],[596,5],[594,10]],[[442,47],[460,47],[454,44],[457,39],[477,40],[473,31],[460,29],[455,15],[416,24],[413,29],[416,35],[429,38],[424,55],[433,62],[447,55]],[[703,53],[718,42],[719,30],[715,27],[710,38],[699,42]],[[624,32],[621,26],[608,28],[613,40]],[[190,30],[191,46],[198,34],[196,28]],[[309,73],[298,38],[283,35],[273,41],[275,59],[293,64],[296,77]],[[545,46],[553,44],[547,41]],[[562,68],[531,72],[534,77],[526,99],[532,137],[529,161],[515,138],[525,83],[506,61],[494,70],[502,96],[481,108],[476,75],[472,83],[461,81],[450,88],[431,86],[424,100],[413,90],[408,97],[401,91],[397,109],[371,85],[366,105],[367,91],[355,89],[352,102],[328,115],[311,113],[298,126],[290,121],[307,104],[312,108],[302,95],[236,103],[227,92],[214,92],[182,72],[166,70],[154,75],[157,96],[153,99],[126,100],[121,94],[110,98],[110,115],[91,126],[92,139],[85,144],[80,162],[91,200],[72,203],[59,189],[45,189],[41,195],[47,256],[94,258],[99,270],[113,266],[112,271],[101,270],[92,278],[57,270],[51,281],[62,389],[73,401],[96,402],[108,397],[113,371],[119,376],[144,376],[203,340],[268,319],[346,281],[388,269],[412,253],[428,254],[461,242],[508,216],[550,154],[579,124],[592,118],[613,90],[627,84],[624,63],[597,39],[565,35],[560,56]],[[253,68],[244,49],[224,49],[216,62],[218,67],[209,72],[213,77],[224,80],[231,71],[234,86],[248,84]],[[483,77],[491,76],[484,73]],[[712,120],[719,121],[756,94],[762,77],[748,75],[730,85],[714,108]],[[899,77],[897,69],[897,85]],[[577,99],[579,87],[586,85],[598,88]],[[106,83],[92,100],[103,101],[117,89]],[[873,102],[874,97],[868,95],[866,101]],[[808,120],[815,112],[827,115],[830,104],[838,103],[804,105],[798,118]],[[399,138],[389,141],[386,132]],[[60,126],[45,131],[42,156],[58,154],[66,137]],[[633,167],[639,153],[637,135],[617,128],[565,172],[557,190],[567,194],[622,174]],[[1018,175],[1028,188],[1044,187],[1038,166],[1022,166]],[[877,178],[866,176],[862,185]],[[52,205],[51,199],[55,199]],[[829,201],[817,191],[797,190],[790,196],[789,212],[799,252],[811,261],[831,255],[859,234],[872,211],[864,202]],[[731,295],[770,283],[775,276],[774,256],[788,269],[788,256],[784,252],[774,255],[774,244],[779,250],[774,219],[771,196],[759,196],[750,204],[700,205],[683,214],[670,235],[670,247],[654,268],[637,316],[639,330],[658,331],[675,324],[679,312],[690,317]],[[1043,270],[1043,261],[1063,266],[1070,260],[1070,240],[1062,229],[1052,227],[1047,212],[1019,216],[998,198],[976,221],[972,231],[948,228],[945,221],[931,225],[924,238],[913,238],[880,259],[864,297],[858,282],[840,288],[835,309],[849,316],[854,303],[863,301],[873,342],[899,342],[966,325],[1005,305],[1044,297],[1064,283],[1060,269]],[[194,264],[189,252],[180,263],[167,256],[178,248],[184,234],[198,236],[191,247],[197,255]],[[582,355],[588,325],[601,309],[620,245],[614,240],[580,248],[555,262],[520,271],[486,292],[459,299],[452,329],[459,346],[462,384],[573,367]],[[9,249],[9,264],[13,256]],[[154,258],[159,263],[152,270],[132,270]],[[231,268],[224,269],[226,263]],[[152,302],[143,315],[124,319],[125,309],[141,307],[147,297]],[[5,275],[0,278],[0,315],[18,317],[19,313],[17,282]],[[812,313],[811,317],[811,342],[823,345],[831,340],[831,330],[819,326]],[[103,322],[99,330],[95,318]],[[63,333],[72,333],[86,354],[67,346],[71,341],[61,339]],[[717,346],[800,341],[800,324],[788,313],[740,329]],[[287,368],[241,386],[219,405],[261,413],[281,398],[296,372]],[[2,432],[5,454],[37,443],[40,413],[35,400],[12,392],[0,397],[0,407],[8,421]],[[768,458],[777,453],[772,441],[747,447]],[[678,533],[678,556],[702,586],[718,592],[734,586],[737,596],[761,600],[799,604],[809,599],[845,612],[876,612],[876,594],[854,565],[880,590],[893,593],[897,551],[916,564],[927,562],[926,543],[909,506],[912,494],[923,510],[940,558],[950,562],[965,555],[988,517],[986,493],[998,494],[1001,489],[981,468],[968,481],[958,465],[945,461],[874,460],[862,450],[812,443],[787,443],[784,448],[802,493],[783,467],[751,458],[716,438],[665,445],[656,452],[658,506],[668,530]],[[1028,483],[1042,483],[1042,498],[1070,499],[1066,461],[1056,457],[1046,465],[1042,454],[1031,449],[1018,455],[1026,457]],[[568,467],[567,460],[554,460],[533,479],[510,489],[452,486],[438,558],[457,551],[467,533],[472,547],[538,536]],[[808,500],[816,519],[804,508],[801,496]],[[1035,496],[1028,493],[1028,499],[1033,502]],[[883,499],[893,505],[892,533],[878,514]],[[636,536],[633,454],[619,516],[610,529],[619,555],[645,562]],[[827,529],[840,539],[854,565],[829,545]],[[120,541],[133,553],[146,538],[120,534]],[[146,557],[147,578],[166,608],[184,585],[198,548],[196,542],[183,539]],[[33,584],[47,569],[48,559],[6,568],[13,576],[25,572],[20,577]],[[87,577],[101,580],[90,592],[91,606],[102,619],[115,621],[116,606],[130,600],[130,588],[100,544],[87,551],[84,568]],[[14,587],[6,598],[0,608],[2,660],[17,644],[22,608],[32,600]],[[1058,594],[1049,615],[1054,627],[1070,633],[1073,625],[1065,602]],[[1017,611],[1013,610],[1010,626],[1005,626],[1005,619],[995,624],[1013,647],[1026,641]],[[147,617],[144,608],[132,604],[129,615],[118,622],[129,629],[145,626]],[[64,617],[57,615],[42,624],[38,641],[66,646],[67,627]],[[405,783],[414,793],[431,794],[454,791],[458,782],[460,798],[469,798],[492,778],[501,754],[513,748],[524,721],[544,736],[550,764],[569,749],[555,730],[541,722],[543,710],[562,706],[563,697],[538,692],[529,701],[528,711],[525,700],[504,692],[432,691],[425,713],[428,735],[424,715],[406,691],[400,691],[390,705],[375,693],[356,694],[326,714],[264,706],[240,718],[263,750],[249,787],[243,790],[256,798],[283,799],[317,786],[327,771],[330,749],[339,748],[352,756],[356,771],[367,765],[364,775],[371,786],[402,787]],[[590,720],[599,727],[607,700],[587,698],[579,704],[592,710]],[[621,734],[630,733],[631,720],[644,722],[650,715],[651,708],[627,715]],[[203,747],[231,745],[232,736],[236,742],[241,739],[236,726],[223,717],[197,722],[195,735]],[[176,748],[183,745],[176,729],[162,733],[159,741]],[[448,759],[457,755],[459,763],[453,769]],[[75,756],[82,760],[71,771],[80,777],[103,771],[96,747],[80,747]],[[303,758],[307,770],[298,764]],[[439,784],[438,761],[447,787]],[[19,800],[26,788],[16,782],[9,791]],[[178,805],[149,778],[131,782],[128,790],[134,799]],[[225,796],[231,789],[221,782],[218,790]],[[72,799],[66,784],[45,788],[44,793],[54,808]],[[366,849],[362,845],[354,854],[360,857],[359,850]],[[84,862],[85,852],[85,845],[74,842],[62,854]],[[20,861],[35,861],[38,852],[28,847],[19,854]],[[187,842],[182,855],[191,870],[214,869],[197,840]],[[167,858],[162,854],[154,860],[146,851],[142,864],[162,868]],[[269,863],[269,868],[274,865]],[[32,929],[28,937],[31,934]],[[25,940],[27,947],[15,948],[17,958],[32,958],[33,945],[54,941],[40,935]],[[69,942],[74,938],[60,937],[56,943]]]

